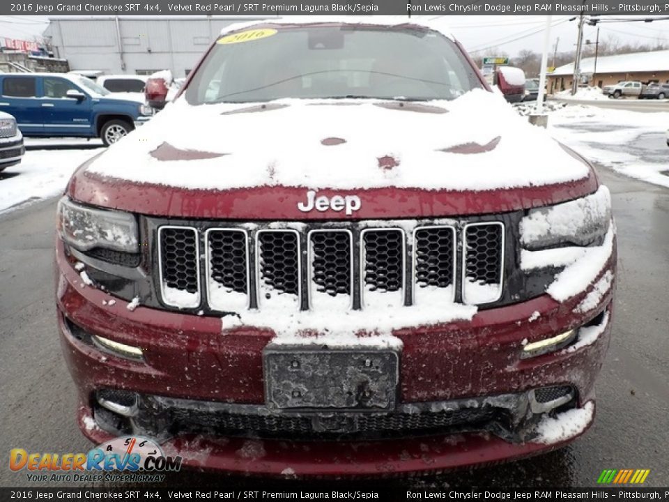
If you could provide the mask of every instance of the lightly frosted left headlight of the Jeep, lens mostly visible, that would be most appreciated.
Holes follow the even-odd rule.
[[[137,222],[121,211],[79,206],[63,197],[56,210],[56,228],[61,239],[81,251],[107,248],[138,252]]]

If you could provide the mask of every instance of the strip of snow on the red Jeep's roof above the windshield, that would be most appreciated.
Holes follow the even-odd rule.
[[[221,30],[221,35],[237,31],[239,29],[250,28],[256,24],[312,24],[312,23],[346,23],[346,24],[378,24],[380,26],[398,26],[399,24],[413,24],[415,26],[424,26],[429,29],[440,32],[443,36],[453,38],[447,24],[441,17],[435,18],[433,16],[412,16],[394,15],[394,16],[314,16],[314,15],[291,15],[286,17],[277,17],[275,19],[254,20],[249,22],[240,22],[225,26]]]

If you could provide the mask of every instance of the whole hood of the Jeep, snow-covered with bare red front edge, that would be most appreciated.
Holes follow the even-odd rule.
[[[79,169],[70,195],[151,214],[302,219],[343,217],[299,212],[307,190],[357,195],[357,218],[511,211],[594,191],[590,167],[526,120],[482,90],[430,103],[182,97]]]

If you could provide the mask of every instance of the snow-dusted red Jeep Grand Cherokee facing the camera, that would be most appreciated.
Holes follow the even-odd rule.
[[[72,177],[56,261],[98,443],[355,476],[533,455],[594,420],[609,192],[413,18],[224,31]]]

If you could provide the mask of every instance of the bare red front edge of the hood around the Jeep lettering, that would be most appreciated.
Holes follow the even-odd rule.
[[[590,174],[583,181],[523,189],[482,191],[420,190],[417,188],[372,188],[368,190],[319,190],[318,195],[357,195],[358,218],[431,218],[505,213],[556,204],[589,195],[597,190]],[[341,220],[341,212],[298,211],[307,188],[261,186],[235,190],[190,190],[131,183],[79,169],[70,181],[68,195],[93,206],[104,206],[145,215],[178,218],[232,220]]]

